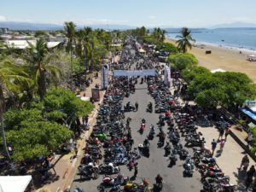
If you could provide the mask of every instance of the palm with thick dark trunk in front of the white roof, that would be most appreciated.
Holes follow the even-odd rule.
[[[57,55],[49,54],[47,44],[43,38],[37,41],[34,46],[28,43],[30,48],[26,51],[25,60],[27,61],[26,70],[34,80],[34,84],[38,87],[38,95],[43,100],[46,93],[46,74],[58,77],[61,75],[61,69],[51,65],[49,61]]]

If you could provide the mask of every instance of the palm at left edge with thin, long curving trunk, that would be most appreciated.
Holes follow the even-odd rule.
[[[3,148],[10,159],[5,132],[4,132],[4,121],[3,113],[5,111],[5,96],[11,90],[19,89],[19,82],[27,81],[26,73],[20,71],[20,66],[14,65],[9,61],[3,61],[0,64],[0,122],[1,122],[1,131],[3,137]]]

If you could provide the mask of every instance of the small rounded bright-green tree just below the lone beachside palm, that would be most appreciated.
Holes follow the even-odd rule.
[[[173,63],[179,70],[183,70],[186,67],[198,64],[198,60],[195,58],[195,56],[189,53],[170,55],[168,61]]]

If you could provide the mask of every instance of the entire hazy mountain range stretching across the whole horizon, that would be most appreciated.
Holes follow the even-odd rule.
[[[85,26],[85,25],[84,25]],[[79,25],[78,28],[83,28],[84,26]],[[136,28],[136,26],[125,26],[125,25],[86,25],[90,26],[94,29],[96,28],[102,28],[102,29],[120,29],[120,30],[126,30],[126,29],[132,29]],[[13,21],[0,21],[0,27],[8,27],[11,30],[48,30],[48,31],[55,31],[55,30],[61,30],[63,29],[63,26],[56,25],[56,24],[41,24],[41,23],[30,23],[30,22],[13,22]],[[227,23],[227,24],[219,24],[215,26],[208,26],[206,28],[237,28],[237,27],[250,27],[250,28],[256,28],[256,24],[253,23],[243,23],[243,22],[236,22],[236,23]],[[154,28],[154,27],[148,27],[148,28]],[[161,27],[166,29],[180,29],[177,27]],[[193,30],[196,29],[202,29],[202,28],[193,28]]]

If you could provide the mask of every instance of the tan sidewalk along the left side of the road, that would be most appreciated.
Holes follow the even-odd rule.
[[[82,91],[80,93],[81,96],[91,96],[91,88],[95,88],[96,84],[100,84],[101,82],[101,73],[99,73],[99,77],[97,79],[93,78],[93,83],[90,84],[90,87],[87,87],[86,90]],[[104,91],[100,91],[100,102],[102,102]],[[51,181],[51,183],[44,185],[44,188],[49,189],[51,192],[56,191],[63,191],[64,189],[67,189],[67,186],[72,182],[73,176],[76,173],[76,167],[78,166],[78,162],[81,160],[82,155],[84,154],[83,148],[85,146],[85,139],[87,139],[90,136],[90,132],[92,131],[92,127],[96,121],[96,113],[97,109],[99,108],[99,103],[95,102],[96,108],[90,113],[89,116],[89,124],[90,124],[90,130],[84,131],[80,137],[80,139],[77,141],[78,143],[78,156],[76,158],[73,158],[74,153],[71,152],[69,154],[65,154],[64,156],[56,155],[55,161],[53,162],[55,164],[55,172],[56,172],[56,179],[54,181]],[[57,161],[57,162],[56,162]],[[54,173],[51,170],[52,173]]]

